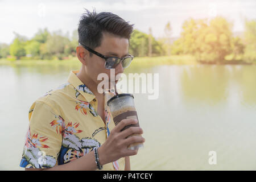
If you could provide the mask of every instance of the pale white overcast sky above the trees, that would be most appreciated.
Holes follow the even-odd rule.
[[[244,30],[245,19],[256,19],[255,0],[73,0],[73,1],[5,1],[0,0],[0,43],[10,44],[14,32],[32,38],[39,28],[50,32],[61,30],[71,35],[77,30],[84,8],[97,13],[112,12],[134,28],[155,38],[164,36],[164,27],[171,23],[172,36],[178,37],[182,24],[189,18],[224,16],[233,23],[233,32]]]

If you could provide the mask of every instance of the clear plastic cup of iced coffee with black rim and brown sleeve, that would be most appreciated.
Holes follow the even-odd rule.
[[[137,111],[135,109],[133,99],[133,95],[127,93],[117,94],[116,96],[110,98],[110,100],[108,101],[108,106],[110,107],[115,126],[117,126],[117,124],[121,122],[122,119],[134,118],[138,120]],[[135,125],[128,125],[124,127],[121,131],[133,126],[139,126],[139,120]],[[133,134],[129,137],[135,135],[141,136],[140,134]],[[130,150],[137,150],[140,147],[143,147],[143,143],[133,143],[128,146]]]

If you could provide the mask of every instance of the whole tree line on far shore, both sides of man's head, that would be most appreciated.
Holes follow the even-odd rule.
[[[256,63],[255,20],[245,22],[244,39],[233,37],[232,23],[221,16],[214,19],[191,18],[185,20],[182,29],[180,38],[173,43],[170,22],[164,27],[166,35],[158,40],[152,36],[151,28],[149,34],[134,30],[129,40],[129,53],[135,57],[192,55],[197,63]],[[50,33],[47,28],[40,29],[31,40],[14,34],[15,39],[10,46],[0,44],[0,58],[60,60],[76,55],[77,30],[72,32],[70,39],[61,31]]]

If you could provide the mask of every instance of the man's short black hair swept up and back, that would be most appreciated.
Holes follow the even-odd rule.
[[[101,45],[103,32],[108,32],[121,38],[130,39],[134,24],[129,24],[124,19],[110,12],[91,13],[85,9],[79,21],[79,43],[95,49]],[[90,56],[92,53],[90,52]]]

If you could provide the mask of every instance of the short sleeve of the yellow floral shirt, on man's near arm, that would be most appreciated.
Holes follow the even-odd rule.
[[[35,101],[28,112],[28,120],[20,167],[54,167],[61,148],[64,119],[52,106]]]

